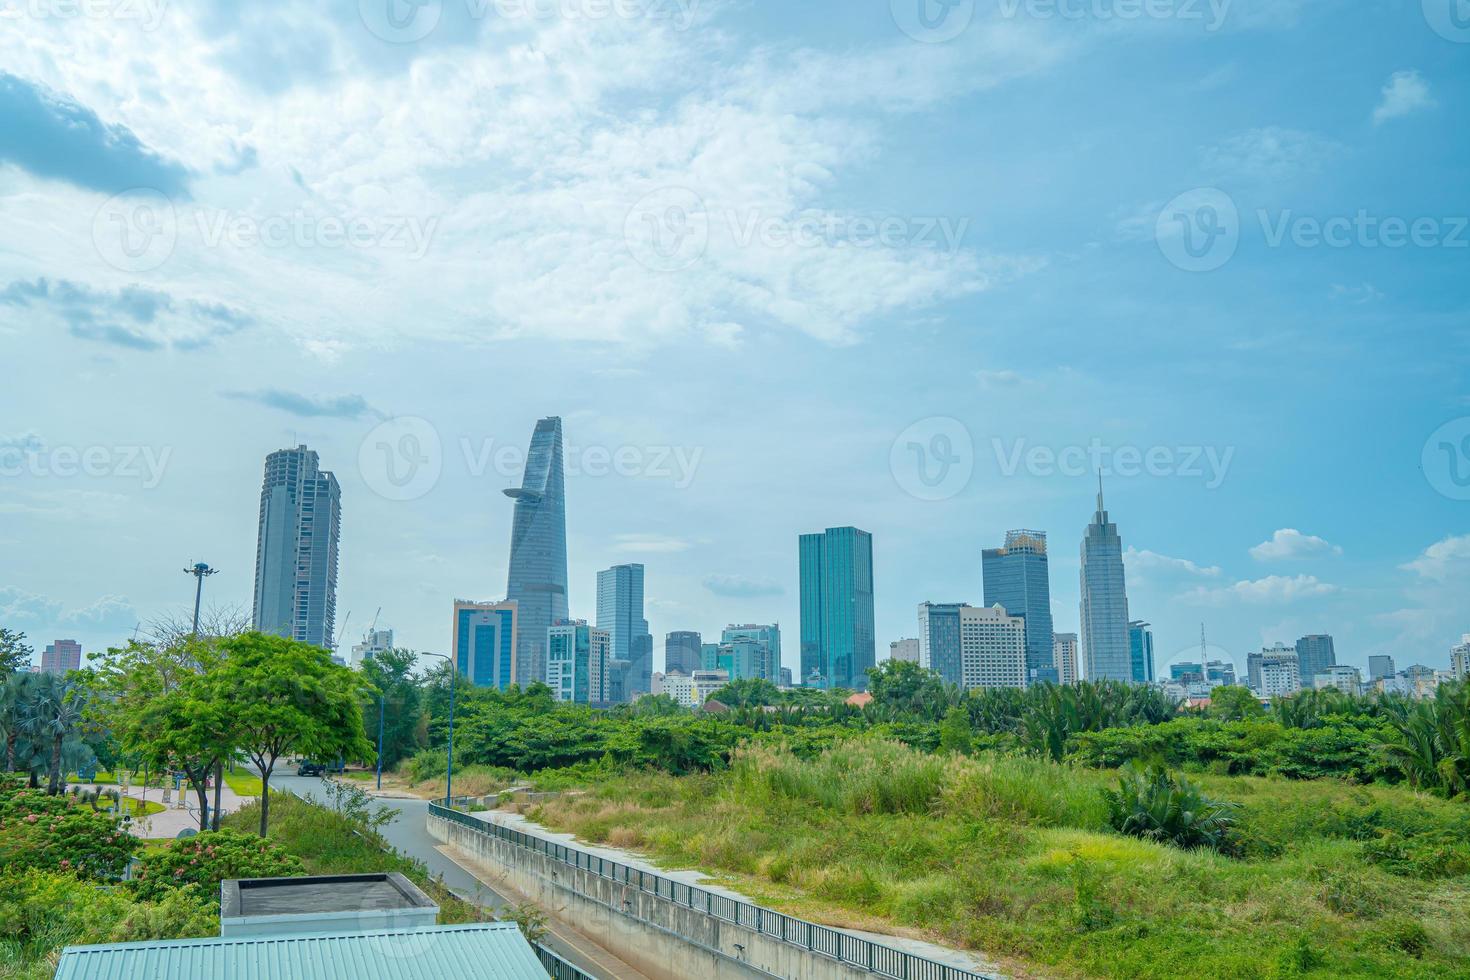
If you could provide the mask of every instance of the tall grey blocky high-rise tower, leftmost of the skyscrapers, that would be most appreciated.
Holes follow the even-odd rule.
[[[331,649],[343,492],[316,453],[266,457],[256,536],[254,627]]]

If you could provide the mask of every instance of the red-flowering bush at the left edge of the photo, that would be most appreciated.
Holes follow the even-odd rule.
[[[137,837],[122,820],[75,796],[47,796],[40,789],[0,783],[0,867],[115,880],[137,848]]]

